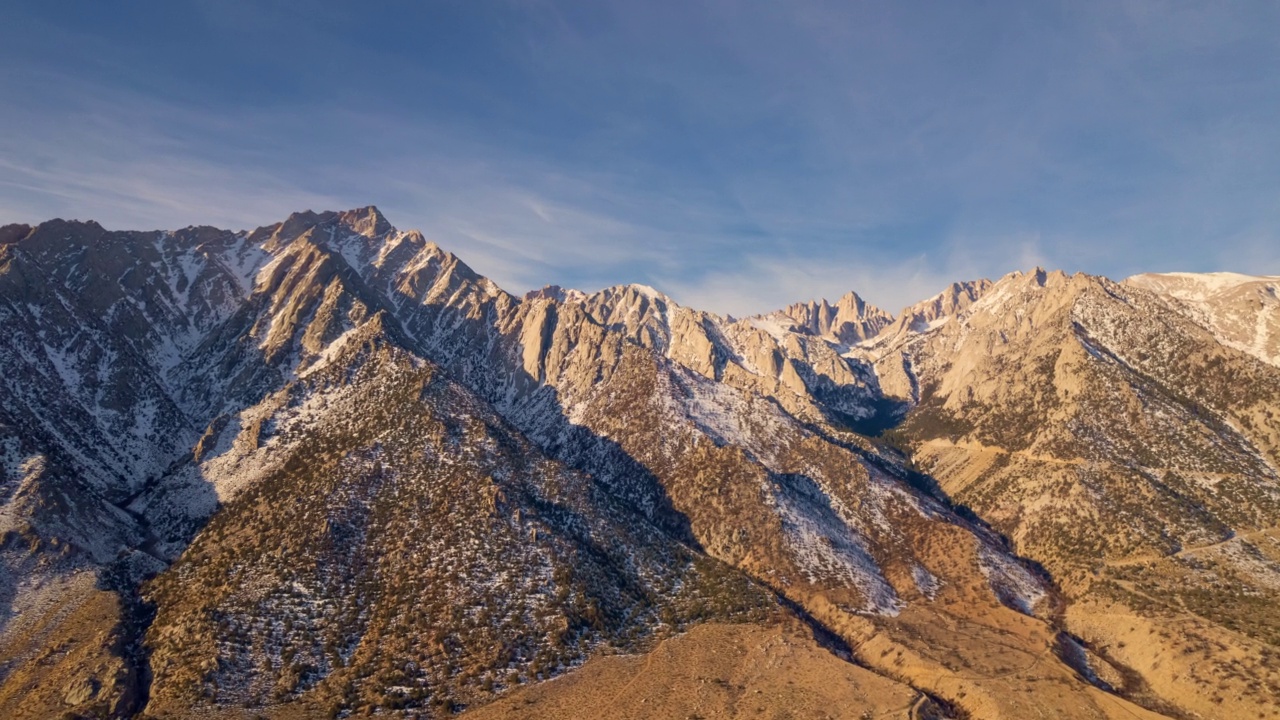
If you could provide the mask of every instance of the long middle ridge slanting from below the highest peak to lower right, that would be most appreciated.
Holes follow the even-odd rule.
[[[378,265],[369,259],[401,242],[365,245],[357,260]],[[384,283],[424,354],[668,533],[838,628],[863,662],[927,680],[984,716],[1027,712],[1019,693],[1044,673],[1064,680],[1052,712],[1115,711],[1075,670],[1053,656],[1042,662],[1055,630],[1020,611],[1046,588],[996,538],[904,482],[908,473],[865,441],[735,388],[723,372],[735,366],[732,346],[721,341],[731,332],[716,332],[724,320],[640,287],[521,301],[454,256],[415,245],[399,270],[381,263],[366,277]],[[927,632],[940,615],[964,630]],[[1006,637],[997,660],[987,647],[1010,626],[1021,628],[1018,641]],[[890,647],[872,642],[881,637],[893,638]]]

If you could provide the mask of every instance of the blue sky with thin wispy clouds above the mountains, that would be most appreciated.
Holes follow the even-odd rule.
[[[1280,274],[1280,4],[0,0],[0,223],[375,204],[512,291]]]

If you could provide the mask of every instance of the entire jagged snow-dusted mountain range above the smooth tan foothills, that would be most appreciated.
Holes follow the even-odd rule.
[[[372,208],[0,240],[5,635],[36,642],[50,593],[84,577],[146,625],[44,675],[10,651],[10,687],[91,675],[92,692],[46,693],[73,708],[444,714],[694,623],[799,612],[956,712],[1016,717],[1028,700],[1009,688],[1036,676],[987,666],[974,638],[1016,628],[1009,652],[1036,660],[1092,597],[1091,564],[1276,524],[1276,375],[1235,350],[1270,336],[1220,342],[1247,309],[1140,278],[1036,272],[896,319],[850,293],[735,320],[644,286],[515,297]],[[1181,342],[1236,374],[1179,374]],[[1162,364],[1143,370],[1129,350],[1149,347]],[[1117,387],[1139,406],[1089,400]],[[904,418],[896,447],[868,437]],[[1011,460],[961,487],[974,446]],[[1196,460],[1115,461],[1140,451]],[[1048,487],[1043,457],[1093,474],[1055,464]],[[1024,460],[1037,479],[1009,470]],[[1188,470],[1226,483],[1172,484]],[[1112,511],[1129,497],[1147,500],[1138,523]],[[1179,711],[1156,670],[1061,656],[1044,670],[1057,716],[1124,703],[1080,675]]]

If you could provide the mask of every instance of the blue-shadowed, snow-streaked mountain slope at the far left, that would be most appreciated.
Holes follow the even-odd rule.
[[[99,562],[136,544],[118,507],[197,436],[173,377],[243,300],[260,252],[211,228],[108,233],[55,220],[0,246],[0,423],[23,492],[10,514]],[[37,460],[38,459],[38,460]],[[67,486],[65,488],[63,486]]]

